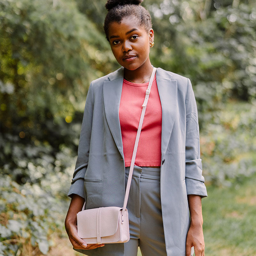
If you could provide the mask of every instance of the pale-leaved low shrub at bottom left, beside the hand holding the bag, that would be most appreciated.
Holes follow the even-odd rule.
[[[58,217],[67,204],[38,184],[19,185],[8,175],[0,175],[0,255],[47,254],[53,231],[62,231]]]

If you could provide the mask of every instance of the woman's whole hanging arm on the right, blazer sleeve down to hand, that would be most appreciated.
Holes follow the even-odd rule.
[[[202,176],[200,140],[196,99],[190,80],[186,95],[186,168],[185,180],[190,212],[190,228],[186,241],[186,256],[194,246],[196,256],[204,256],[204,235],[201,198],[207,196]]]

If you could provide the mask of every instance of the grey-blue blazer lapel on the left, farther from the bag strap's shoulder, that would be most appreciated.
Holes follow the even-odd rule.
[[[124,79],[124,68],[121,67],[108,75],[110,81],[103,83],[103,102],[106,119],[116,146],[124,159],[122,134],[119,120],[119,105]]]

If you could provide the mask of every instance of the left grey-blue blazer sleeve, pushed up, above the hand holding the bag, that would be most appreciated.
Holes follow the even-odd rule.
[[[90,141],[92,133],[92,116],[93,116],[93,89],[92,83],[89,86],[89,90],[86,97],[84,116],[82,122],[82,128],[78,144],[78,154],[76,160],[75,171],[73,174],[73,179],[71,186],[68,191],[68,196],[71,197],[72,194],[79,196],[84,196],[84,175],[88,165]],[[85,198],[86,200],[86,198]]]

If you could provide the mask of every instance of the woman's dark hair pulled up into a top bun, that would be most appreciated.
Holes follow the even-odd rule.
[[[108,39],[108,29],[111,22],[121,23],[122,19],[127,16],[134,16],[140,22],[146,31],[152,28],[151,16],[149,12],[140,4],[143,0],[108,0],[105,7],[108,10],[104,21],[104,31]]]

